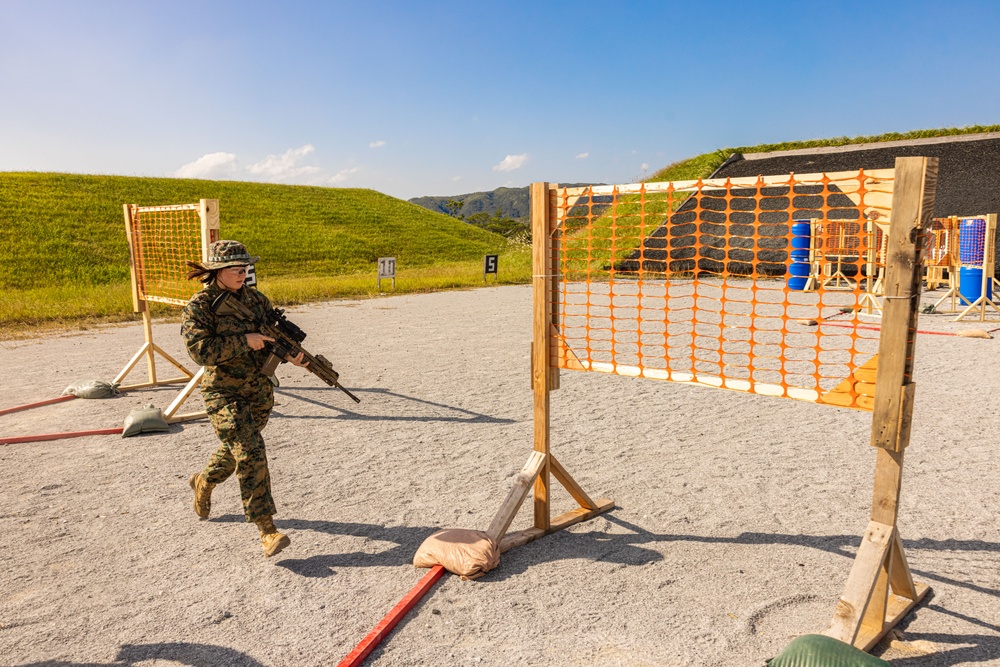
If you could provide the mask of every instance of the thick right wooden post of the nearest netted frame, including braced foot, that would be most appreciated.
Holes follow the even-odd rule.
[[[937,158],[897,158],[886,257],[871,444],[878,447],[871,521],[837,603],[831,637],[869,650],[930,590],[914,584],[896,526],[910,439],[921,252],[937,188]]]

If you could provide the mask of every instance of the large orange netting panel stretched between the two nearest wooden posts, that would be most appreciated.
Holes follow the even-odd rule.
[[[551,188],[553,363],[871,410],[892,179]]]

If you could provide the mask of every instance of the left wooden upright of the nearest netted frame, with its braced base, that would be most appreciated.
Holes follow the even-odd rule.
[[[615,502],[609,498],[594,501],[577,484],[566,468],[549,451],[549,392],[559,388],[559,370],[552,364],[549,330],[555,324],[556,310],[552,299],[554,267],[552,224],[548,183],[531,185],[531,227],[533,286],[533,336],[531,344],[531,384],[534,390],[535,446],[514,486],[500,506],[487,533],[505,552],[527,544],[573,524],[592,519],[611,510]],[[551,516],[551,479],[556,480],[579,504],[575,510]],[[533,528],[507,534],[528,492],[534,490],[535,525]]]

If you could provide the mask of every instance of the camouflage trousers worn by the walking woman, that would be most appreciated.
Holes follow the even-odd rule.
[[[248,381],[239,394],[202,393],[208,419],[222,441],[202,476],[209,484],[220,484],[236,473],[240,482],[243,514],[248,522],[277,512],[271,497],[271,474],[260,432],[274,407],[271,383]]]

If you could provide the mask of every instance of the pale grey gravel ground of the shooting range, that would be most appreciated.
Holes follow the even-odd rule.
[[[530,288],[288,314],[363,400],[280,371],[264,434],[291,547],[261,556],[234,480],[196,520],[205,421],[0,446],[0,663],[336,664],[426,572],[411,565],[425,537],[486,528],[531,449]],[[176,322],[155,338],[186,359]],[[135,325],[0,343],[0,407],[110,379],[141,343]],[[933,592],[876,648],[896,667],[1000,665],[998,345],[918,339],[900,530]],[[120,426],[176,391],[0,416],[0,436]],[[366,664],[762,665],[827,627],[868,522],[868,413],[569,371],[552,410],[553,452],[617,508],[479,580],[446,576]]]

